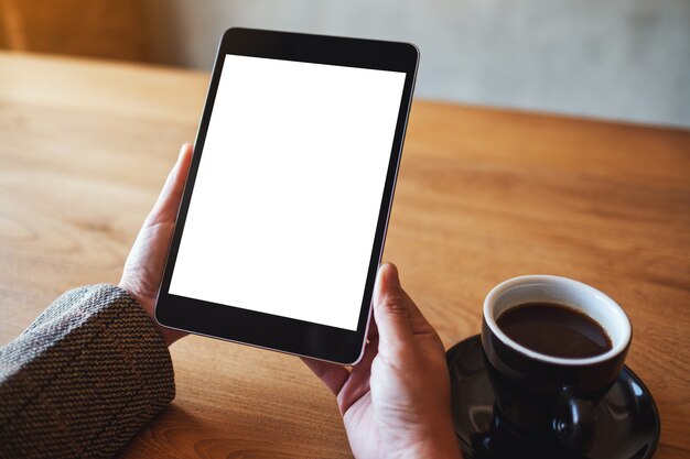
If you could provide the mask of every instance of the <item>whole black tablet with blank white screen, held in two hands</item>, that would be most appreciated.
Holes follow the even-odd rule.
[[[406,43],[224,34],[161,325],[344,364],[360,358],[418,59]]]

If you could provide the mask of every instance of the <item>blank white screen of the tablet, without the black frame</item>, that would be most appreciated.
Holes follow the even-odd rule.
[[[226,55],[169,292],[356,330],[403,83]]]

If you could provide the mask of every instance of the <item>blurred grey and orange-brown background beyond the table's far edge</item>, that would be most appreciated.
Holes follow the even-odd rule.
[[[690,0],[0,0],[0,46],[209,70],[229,26],[409,41],[417,97],[690,127]]]

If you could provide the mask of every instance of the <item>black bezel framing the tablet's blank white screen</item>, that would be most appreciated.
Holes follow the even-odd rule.
[[[168,293],[227,54],[406,74],[356,331]],[[225,32],[218,46],[206,103],[196,134],[194,155],[159,291],[155,307],[155,319],[159,324],[196,335],[342,364],[353,364],[360,359],[368,329],[376,272],[384,250],[418,62],[419,51],[408,43],[239,28]]]

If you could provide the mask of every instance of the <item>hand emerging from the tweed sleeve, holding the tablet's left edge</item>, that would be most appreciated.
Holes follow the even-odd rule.
[[[168,175],[163,190],[139,230],[139,236],[125,263],[122,278],[118,284],[120,288],[129,292],[154,321],[155,298],[175,229],[184,182],[190,172],[192,152],[190,143],[182,145],[177,162]],[[182,331],[159,328],[168,346],[186,335]]]

